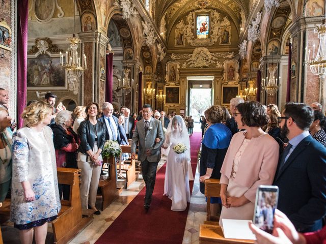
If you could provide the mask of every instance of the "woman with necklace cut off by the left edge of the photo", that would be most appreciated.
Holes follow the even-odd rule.
[[[8,110],[0,107],[0,206],[4,202],[11,183],[12,131]]]

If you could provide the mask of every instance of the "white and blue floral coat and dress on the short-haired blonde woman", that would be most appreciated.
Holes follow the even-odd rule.
[[[21,186],[29,180],[35,200],[26,202]],[[11,221],[18,229],[40,226],[61,209],[52,130],[25,127],[13,135]]]

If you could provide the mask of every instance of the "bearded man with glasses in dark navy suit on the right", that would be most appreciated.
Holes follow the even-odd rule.
[[[278,209],[296,230],[321,229],[326,214],[326,149],[309,135],[314,113],[303,103],[287,103],[280,117],[281,135],[289,144],[280,157],[274,185]]]

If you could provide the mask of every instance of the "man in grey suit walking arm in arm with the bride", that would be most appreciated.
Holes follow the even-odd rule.
[[[142,109],[143,119],[137,122],[131,140],[131,154],[133,159],[135,159],[136,146],[139,143],[138,160],[141,161],[146,186],[145,209],[148,209],[151,204],[156,169],[160,160],[160,149],[164,141],[161,121],[152,118],[152,113],[151,105],[145,104]],[[159,138],[160,141],[156,143],[155,138]]]

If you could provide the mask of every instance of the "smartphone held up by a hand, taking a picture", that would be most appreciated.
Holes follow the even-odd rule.
[[[274,212],[279,200],[277,186],[259,186],[256,193],[256,203],[253,223],[267,233],[273,232]]]

